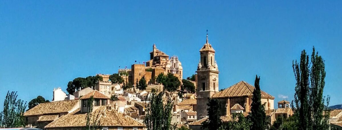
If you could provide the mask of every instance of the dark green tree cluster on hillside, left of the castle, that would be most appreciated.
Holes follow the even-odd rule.
[[[69,94],[73,94],[75,92],[75,89],[79,90],[80,88],[86,88],[86,87],[95,87],[96,81],[102,81],[103,78],[99,75],[96,76],[88,76],[86,78],[78,77],[75,78],[73,81],[69,81],[67,86],[67,91]]]

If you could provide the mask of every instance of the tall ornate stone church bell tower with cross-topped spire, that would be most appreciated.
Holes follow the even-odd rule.
[[[208,97],[219,92],[219,69],[215,60],[215,50],[208,42],[199,50],[200,60],[197,66],[197,119],[208,115]]]

